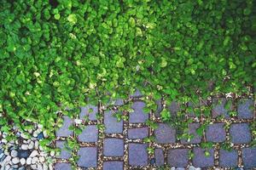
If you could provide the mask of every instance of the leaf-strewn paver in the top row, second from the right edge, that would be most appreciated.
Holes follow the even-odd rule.
[[[224,98],[220,98],[220,100],[221,100],[220,104],[218,104],[218,98],[214,98],[212,100],[212,105],[214,105],[212,109],[212,117],[215,118],[217,116],[223,115],[225,118],[230,118],[229,112],[225,109],[225,104],[227,100]]]

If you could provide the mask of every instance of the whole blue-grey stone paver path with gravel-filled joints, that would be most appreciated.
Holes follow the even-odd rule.
[[[195,167],[243,167],[244,169],[253,169],[256,167],[256,148],[250,146],[253,137],[250,131],[250,123],[255,119],[255,113],[250,107],[253,107],[253,100],[246,99],[244,102],[236,101],[233,107],[238,115],[231,118],[228,111],[225,110],[225,99],[217,104],[217,99],[212,99],[212,119],[206,132],[200,137],[195,131],[204,122],[204,119],[197,119],[195,114],[190,113],[193,122],[189,124],[189,133],[195,137],[190,141],[177,138],[177,129],[170,127],[160,121],[161,102],[158,112],[144,113],[145,104],[140,100],[140,96],[133,96],[132,108],[135,112],[123,113],[129,116],[127,121],[117,122],[114,113],[118,112],[118,107],[113,110],[103,111],[102,105],[88,105],[82,107],[80,119],[89,116],[90,122],[83,122],[85,127],[77,139],[79,141],[80,156],[77,164],[86,169],[103,170],[121,170],[121,169],[160,169],[160,167],[169,166],[177,169],[195,169]],[[208,101],[209,102],[209,101]],[[123,105],[123,101],[116,102],[117,105]],[[171,112],[177,111],[177,105],[172,103]],[[91,111],[91,112],[90,112]],[[96,114],[104,116],[97,118]],[[218,119],[218,116],[224,116]],[[154,120],[158,127],[153,129],[147,126],[147,120]],[[98,129],[97,124],[103,123],[105,129]],[[64,116],[64,125],[56,133],[58,139],[56,146],[61,148],[61,156],[55,163],[56,170],[71,169],[68,158],[71,156],[63,146],[67,138],[73,135],[68,130],[68,126],[74,124],[74,121]],[[144,138],[153,135],[155,141],[145,143]],[[223,150],[220,145],[225,141],[232,143],[230,151]],[[209,156],[205,156],[204,149],[201,149],[202,142],[212,142],[214,147],[208,150]],[[148,147],[154,148],[154,153],[148,154]],[[192,156],[194,155],[194,156]],[[170,168],[166,168],[170,169]]]

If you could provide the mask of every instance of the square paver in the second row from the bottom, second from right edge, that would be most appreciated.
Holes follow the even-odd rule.
[[[226,139],[224,123],[210,124],[207,127],[206,136],[209,142],[224,142]]]

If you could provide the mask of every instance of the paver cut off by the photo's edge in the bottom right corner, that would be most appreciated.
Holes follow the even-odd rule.
[[[241,149],[241,156],[244,167],[256,167],[256,147]]]

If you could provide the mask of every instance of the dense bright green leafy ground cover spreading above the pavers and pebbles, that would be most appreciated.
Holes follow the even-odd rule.
[[[160,98],[196,105],[213,94],[249,94],[256,86],[255,5],[3,0],[1,131],[12,139],[14,125],[26,130],[38,122],[49,133],[41,144],[49,144],[61,123],[56,111],[74,116],[80,105],[125,99],[136,88],[148,96],[147,111]],[[161,115],[171,121],[166,110]]]

